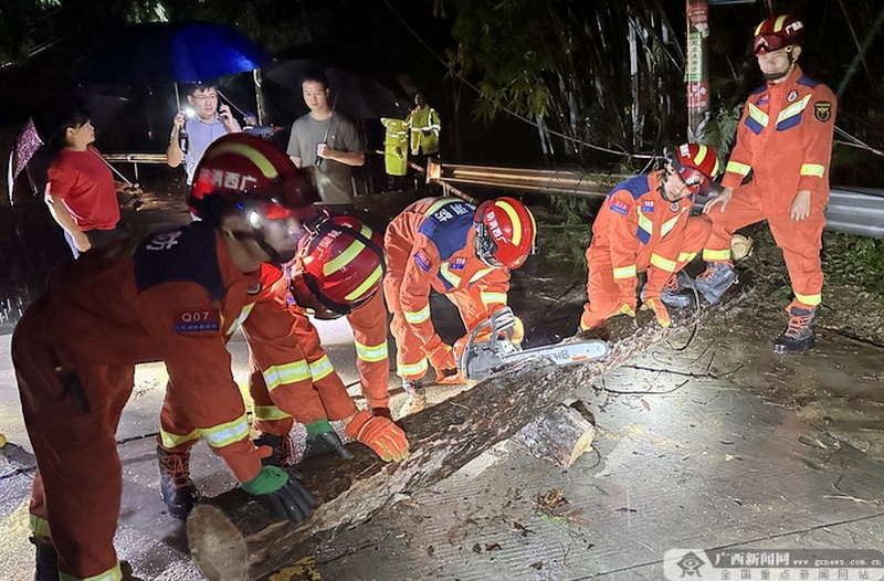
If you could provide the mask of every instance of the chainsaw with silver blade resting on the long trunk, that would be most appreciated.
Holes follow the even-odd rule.
[[[608,342],[600,339],[522,349],[512,341],[515,327],[516,316],[509,307],[482,321],[470,332],[457,355],[461,373],[466,379],[478,380],[519,361],[549,359],[564,367],[600,361],[611,351]]]

